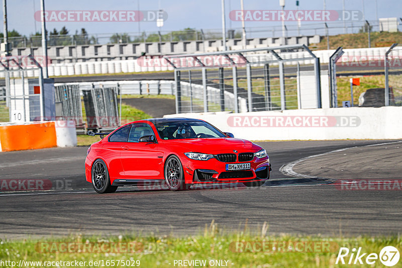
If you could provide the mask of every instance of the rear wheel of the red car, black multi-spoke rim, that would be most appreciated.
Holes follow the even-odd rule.
[[[109,171],[105,162],[100,159],[95,160],[91,173],[92,187],[98,194],[114,193],[117,186],[110,183]]]

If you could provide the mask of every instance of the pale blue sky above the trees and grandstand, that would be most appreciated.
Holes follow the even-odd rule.
[[[285,0],[285,10],[295,10],[295,0]],[[326,0],[326,10],[342,10],[343,0]],[[376,19],[376,1],[363,0],[367,20]],[[402,17],[401,0],[377,0],[378,17]],[[225,0],[226,27],[240,28],[241,22],[231,21],[229,12],[240,10],[240,0]],[[299,10],[322,10],[324,0],[299,0]],[[139,9],[138,9],[139,6]],[[187,27],[196,29],[222,29],[221,1],[173,1],[173,0],[45,0],[45,9],[53,11],[135,11],[163,9],[168,14],[162,31],[181,30]],[[244,0],[245,10],[279,10],[279,0]],[[362,0],[345,0],[346,10],[362,11]],[[34,13],[40,11],[40,0],[8,0],[8,27],[29,36],[40,31],[41,23],[35,21]],[[3,16],[3,11],[1,11]],[[289,22],[296,24],[296,22]],[[280,22],[246,22],[246,27],[278,26]],[[75,30],[85,28],[91,34],[135,33],[141,31],[158,31],[156,22],[48,22],[48,31],[63,27],[74,34]],[[3,29],[0,30],[3,32]]]

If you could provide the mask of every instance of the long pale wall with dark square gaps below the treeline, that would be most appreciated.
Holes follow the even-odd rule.
[[[321,37],[303,36],[288,37],[287,44],[310,44],[320,43]],[[282,38],[253,38],[247,39],[247,48],[256,48],[257,46],[280,46],[284,45]],[[48,44],[49,45],[49,44]],[[160,46],[160,49],[159,49]],[[228,49],[242,49],[241,39],[228,39]],[[222,51],[222,40],[194,40],[194,41],[176,41],[176,42],[145,42],[145,43],[125,43],[125,44],[104,44],[104,45],[68,45],[52,46],[48,48],[48,57],[53,63],[71,63],[84,61],[108,61],[108,60],[130,60],[136,59],[145,52],[147,55],[169,55]],[[41,47],[16,47],[12,50],[12,55],[39,56],[42,54]]]

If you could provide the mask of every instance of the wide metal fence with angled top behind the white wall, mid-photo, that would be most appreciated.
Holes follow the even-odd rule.
[[[321,107],[319,60],[303,45],[164,60],[175,68],[178,113]]]

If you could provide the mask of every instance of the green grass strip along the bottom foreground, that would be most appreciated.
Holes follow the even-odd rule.
[[[89,267],[88,261],[103,260],[107,266],[118,266],[117,260],[140,261],[140,267],[173,267],[174,260],[227,260],[229,267],[350,267],[351,265],[335,264],[339,247],[346,246],[350,250],[353,247],[362,247],[362,252],[374,252],[379,254],[384,246],[392,245],[399,250],[402,242],[397,236],[388,237],[324,237],[324,236],[301,236],[301,235],[269,235],[268,226],[264,223],[258,227],[256,232],[250,232],[247,226],[239,226],[237,231],[226,231],[219,228],[214,222],[206,226],[203,232],[190,236],[156,235],[156,234],[125,234],[121,236],[82,236],[72,235],[63,238],[31,239],[23,240],[1,240],[0,259],[11,260],[17,263],[20,259],[26,261],[86,261],[83,267]],[[294,252],[292,249],[280,252],[278,249],[238,252],[236,242],[329,242],[329,250],[321,249],[315,252]],[[54,243],[52,243],[54,242]],[[76,250],[65,250],[59,252],[49,250],[48,245],[60,245],[58,242],[86,243],[91,245],[102,245],[114,243],[133,243],[134,252],[124,249],[120,252],[110,252],[106,249],[103,252],[76,252]],[[124,245],[124,244],[123,244]],[[93,248],[93,247],[92,247]],[[109,251],[109,252],[108,252]],[[128,251],[128,252],[127,252]],[[251,250],[252,251],[252,250]],[[350,256],[350,254],[349,254]],[[348,258],[345,258],[348,261]],[[108,261],[109,260],[109,261]],[[115,265],[112,265],[115,260]],[[108,262],[107,262],[108,261]],[[364,261],[364,258],[363,258]],[[171,264],[169,264],[171,263]],[[233,264],[232,264],[233,263]],[[93,265],[94,266],[94,265]],[[121,266],[121,264],[119,265]],[[176,265],[177,266],[177,265]],[[209,265],[206,265],[207,267]],[[353,266],[353,265],[352,265]],[[381,266],[377,260],[375,266]],[[31,264],[30,267],[39,267],[38,264]],[[371,267],[359,265],[359,267]],[[393,267],[401,267],[399,264]]]

